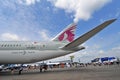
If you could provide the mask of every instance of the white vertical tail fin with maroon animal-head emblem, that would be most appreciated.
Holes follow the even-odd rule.
[[[76,24],[72,23],[67,26],[63,31],[61,31],[57,36],[55,36],[52,41],[59,42],[72,42],[74,40],[76,30]]]

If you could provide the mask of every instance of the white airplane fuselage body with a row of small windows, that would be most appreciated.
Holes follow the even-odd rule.
[[[0,64],[32,63],[72,53],[59,42],[0,42]]]

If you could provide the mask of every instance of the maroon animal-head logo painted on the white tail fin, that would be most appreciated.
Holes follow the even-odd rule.
[[[69,42],[72,42],[75,36],[74,34],[75,28],[76,25],[68,28],[65,32],[63,32],[58,38],[59,41],[68,40]]]

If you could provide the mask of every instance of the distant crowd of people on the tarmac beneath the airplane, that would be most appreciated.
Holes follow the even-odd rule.
[[[93,66],[102,66],[102,65],[119,65],[120,62],[109,62],[109,63],[78,63],[78,62],[73,62],[73,63],[60,63],[60,64],[52,64],[52,65],[47,65],[47,64],[39,64],[39,65],[27,65],[21,66],[17,68],[18,73],[21,74],[23,70],[38,70],[40,72],[46,71],[47,69],[54,69],[54,68],[69,68],[69,67],[87,67],[90,65]],[[11,68],[11,73],[14,74],[15,68]]]

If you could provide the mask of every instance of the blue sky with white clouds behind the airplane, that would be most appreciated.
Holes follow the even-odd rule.
[[[82,62],[120,57],[119,3],[120,0],[0,0],[0,40],[47,41],[72,22],[77,23],[77,38],[103,21],[117,18],[85,42],[85,50],[70,55]],[[70,55],[57,60],[69,59]]]

